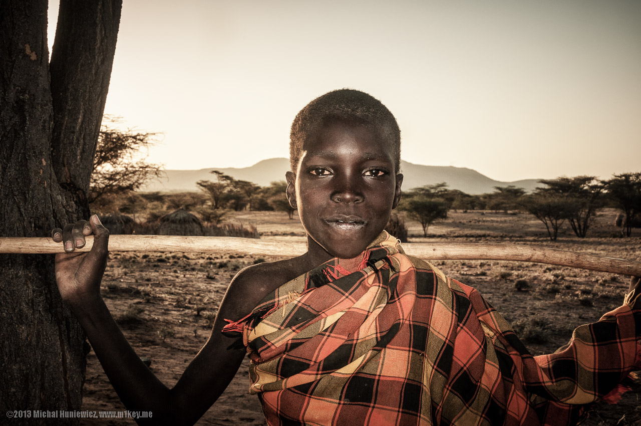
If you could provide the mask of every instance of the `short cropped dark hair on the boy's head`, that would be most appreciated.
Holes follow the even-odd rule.
[[[289,142],[289,158],[294,173],[303,153],[304,142],[313,137],[319,126],[328,123],[328,120],[372,126],[378,137],[392,144],[395,172],[398,173],[401,164],[401,130],[394,115],[378,99],[353,89],[333,90],[319,96],[296,115]]]

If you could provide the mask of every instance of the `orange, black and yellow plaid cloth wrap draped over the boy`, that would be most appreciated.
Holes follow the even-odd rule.
[[[269,425],[567,425],[640,366],[640,314],[624,305],[533,357],[478,291],[383,232],[223,331],[247,346]]]

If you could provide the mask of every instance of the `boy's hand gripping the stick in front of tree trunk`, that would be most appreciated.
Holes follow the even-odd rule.
[[[91,251],[74,253],[75,248],[85,246],[85,236],[94,234]],[[98,219],[78,221],[55,228],[51,235],[56,243],[63,243],[65,253],[56,255],[56,282],[62,300],[72,309],[82,307],[100,298],[100,282],[107,264],[109,231]]]

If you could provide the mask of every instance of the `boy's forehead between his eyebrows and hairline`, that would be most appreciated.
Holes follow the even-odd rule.
[[[394,162],[392,144],[371,124],[332,121],[316,130],[303,144],[303,157],[350,156]]]

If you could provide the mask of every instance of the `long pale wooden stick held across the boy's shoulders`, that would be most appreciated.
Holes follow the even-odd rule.
[[[76,250],[88,251],[93,244],[94,239],[90,235],[87,237],[87,245]],[[406,243],[403,244],[403,249],[408,255],[426,260],[515,260],[641,276],[641,262],[636,260],[615,259],[522,244]],[[292,257],[303,254],[306,251],[306,243],[239,237],[110,235],[109,250],[222,252]],[[54,243],[51,238],[0,237],[0,253],[63,252],[62,243]]]

